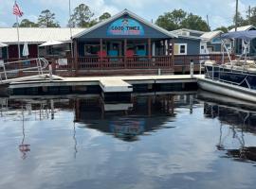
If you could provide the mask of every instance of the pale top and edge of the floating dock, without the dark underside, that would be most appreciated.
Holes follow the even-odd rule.
[[[104,92],[131,92],[133,84],[154,83],[191,83],[196,82],[197,75],[170,75],[170,76],[133,76],[133,77],[58,77],[50,80],[48,75],[19,77],[3,81],[9,88],[31,88],[51,86],[87,86],[100,85]]]

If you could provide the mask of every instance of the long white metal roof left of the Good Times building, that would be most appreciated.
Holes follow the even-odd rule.
[[[84,31],[85,28],[72,28],[72,35]],[[20,27],[20,43],[46,43],[51,40],[70,42],[70,28],[62,27]],[[1,43],[18,43],[17,28],[0,28]]]

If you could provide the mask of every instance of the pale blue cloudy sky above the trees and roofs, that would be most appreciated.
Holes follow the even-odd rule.
[[[0,0],[0,27],[12,26],[15,16],[12,15],[14,0]],[[37,16],[43,9],[50,9],[56,14],[56,19],[61,26],[66,26],[68,20],[68,0],[17,0],[24,11],[22,17],[36,21]],[[84,3],[95,12],[96,16],[104,11],[112,14],[122,9],[129,9],[146,20],[155,21],[158,15],[173,9],[184,9],[206,19],[209,15],[210,26],[214,29],[217,26],[229,26],[232,22],[232,15],[235,11],[235,0],[71,0],[71,7],[74,9],[80,3]],[[246,14],[248,6],[256,6],[255,0],[240,0],[239,10]]]

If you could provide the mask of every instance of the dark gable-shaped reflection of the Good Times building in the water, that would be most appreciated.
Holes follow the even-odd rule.
[[[75,121],[83,123],[86,128],[98,129],[133,142],[138,140],[139,135],[161,129],[165,123],[172,121],[175,117],[174,107],[190,105],[191,96],[133,96],[131,102],[121,104],[105,104],[101,98],[76,99]]]

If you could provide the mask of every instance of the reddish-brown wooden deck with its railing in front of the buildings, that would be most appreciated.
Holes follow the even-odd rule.
[[[233,57],[232,57],[233,58]],[[189,74],[191,60],[194,62],[194,72],[199,73],[200,62],[204,60],[221,61],[222,55],[175,55],[157,57],[81,57],[77,59],[66,59],[67,64],[59,64],[55,58],[47,59],[52,63],[55,75],[62,77],[95,77],[95,76],[139,76],[139,75],[172,75]],[[14,59],[13,59],[14,60]],[[13,61],[13,60],[4,60]],[[229,61],[225,57],[225,61]],[[7,70],[15,68],[26,68],[36,62],[16,63]],[[47,70],[46,72],[47,73]],[[13,73],[18,77],[31,76],[32,72]],[[17,77],[16,76],[16,77]]]

